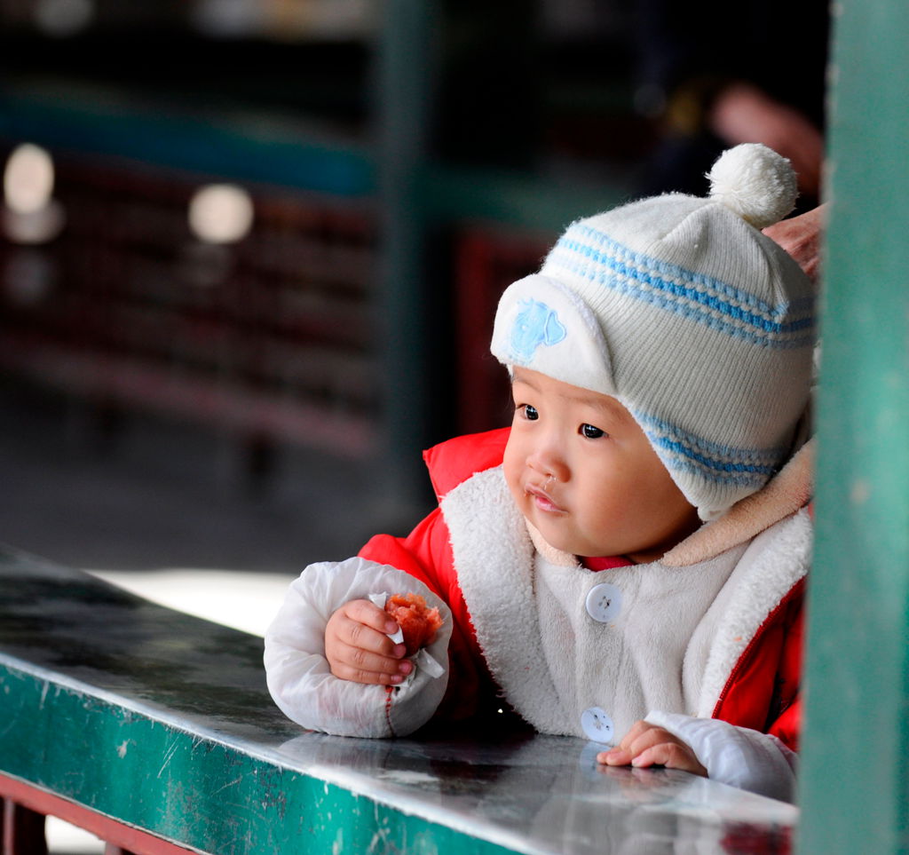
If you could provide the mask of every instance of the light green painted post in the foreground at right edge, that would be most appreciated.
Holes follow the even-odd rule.
[[[834,4],[803,853],[909,851],[909,5]]]

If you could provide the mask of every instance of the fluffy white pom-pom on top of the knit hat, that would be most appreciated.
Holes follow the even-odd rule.
[[[725,151],[707,174],[710,196],[754,228],[778,223],[795,206],[792,164],[772,148],[744,143]]]

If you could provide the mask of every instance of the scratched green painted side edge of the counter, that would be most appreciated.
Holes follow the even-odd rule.
[[[366,851],[375,840],[412,855],[512,851],[4,662],[0,709],[3,772],[176,845],[213,855]]]

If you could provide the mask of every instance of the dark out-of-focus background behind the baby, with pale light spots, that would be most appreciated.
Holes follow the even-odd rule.
[[[749,138],[814,204],[825,50],[808,0],[0,0],[0,542],[261,632],[507,423],[572,219]]]

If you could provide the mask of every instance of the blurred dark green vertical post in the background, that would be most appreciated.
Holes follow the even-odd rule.
[[[377,52],[375,133],[383,225],[379,324],[385,348],[385,495],[408,512],[428,496],[427,441],[433,367],[426,358],[429,297],[420,184],[433,95],[436,4],[385,0]],[[394,513],[394,511],[392,511]]]

